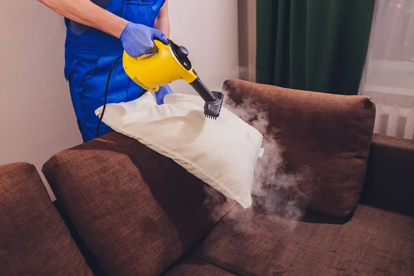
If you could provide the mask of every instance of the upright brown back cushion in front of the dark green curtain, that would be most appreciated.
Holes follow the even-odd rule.
[[[339,217],[355,210],[375,121],[371,99],[240,80],[226,81],[224,90],[235,103],[248,99],[268,112],[288,172],[310,169],[304,179],[309,208]]]

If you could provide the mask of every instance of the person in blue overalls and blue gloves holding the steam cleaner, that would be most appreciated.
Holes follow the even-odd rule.
[[[106,81],[112,63],[124,50],[132,57],[154,47],[154,39],[170,35],[168,0],[38,0],[65,17],[64,75],[84,142],[97,137]],[[144,88],[133,82],[115,63],[108,86],[108,103],[137,99]],[[155,93],[158,104],[171,93],[168,85]],[[99,135],[112,131],[101,123]]]

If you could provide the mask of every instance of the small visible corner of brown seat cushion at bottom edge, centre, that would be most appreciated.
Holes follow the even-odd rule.
[[[165,274],[166,276],[232,276],[234,274],[222,270],[213,264],[208,264],[196,257],[188,257],[175,266]]]

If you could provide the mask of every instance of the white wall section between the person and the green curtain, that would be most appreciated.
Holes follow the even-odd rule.
[[[206,86],[221,90],[226,79],[238,76],[237,0],[169,0],[170,39],[183,45]],[[175,92],[194,93],[184,81]]]

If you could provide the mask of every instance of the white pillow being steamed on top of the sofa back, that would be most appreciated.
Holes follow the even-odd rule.
[[[159,106],[147,92],[135,101],[108,104],[102,121],[170,157],[244,208],[251,206],[263,136],[226,108],[217,120],[208,119],[199,96],[174,93]]]

